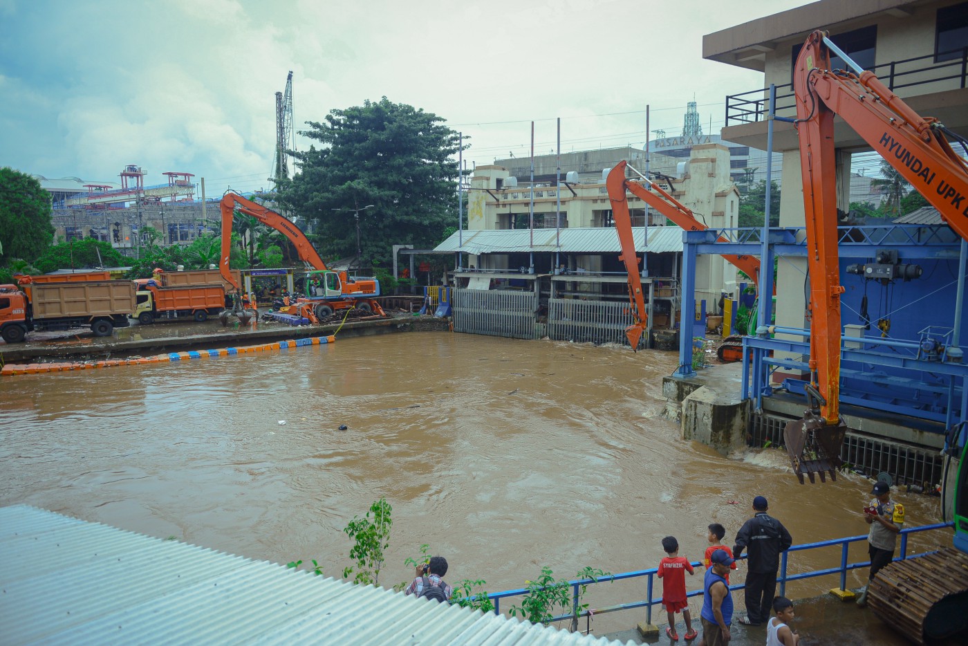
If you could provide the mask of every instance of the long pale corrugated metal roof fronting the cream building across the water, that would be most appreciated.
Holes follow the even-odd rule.
[[[649,245],[644,244],[645,227],[635,227],[635,248],[650,253],[681,252],[682,230],[679,227],[650,227]],[[438,253],[466,254],[510,254],[518,252],[561,251],[569,254],[611,254],[620,253],[619,234],[612,227],[583,227],[562,229],[560,248],[556,245],[554,229],[535,229],[534,246],[530,246],[531,235],[527,229],[499,229],[488,231],[464,231],[463,244],[459,244],[460,232],[453,233],[435,249]]]

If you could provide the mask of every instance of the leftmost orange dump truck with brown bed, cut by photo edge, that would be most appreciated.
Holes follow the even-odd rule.
[[[135,284],[125,280],[53,283],[34,280],[20,290],[0,285],[0,336],[24,341],[27,332],[90,326],[95,336],[126,327],[135,311]]]

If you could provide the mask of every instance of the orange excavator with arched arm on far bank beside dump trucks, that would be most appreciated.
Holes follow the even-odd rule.
[[[346,271],[327,269],[326,263],[319,258],[319,254],[309,238],[296,227],[295,223],[272,209],[252,200],[247,200],[231,191],[222,198],[220,205],[222,209],[222,259],[219,262],[219,270],[223,279],[232,286],[228,293],[232,295],[233,302],[232,309],[223,312],[224,322],[227,321],[227,316],[233,315],[239,319],[240,323],[244,324],[248,323],[252,316],[250,311],[243,306],[244,294],[241,293],[242,288],[228,267],[228,257],[231,252],[232,218],[235,211],[251,215],[267,227],[282,232],[295,247],[299,260],[315,269],[306,278],[306,295],[300,296],[293,305],[289,306],[291,313],[308,319],[311,323],[320,323],[332,316],[334,312],[349,308],[355,308],[364,314],[386,316],[383,308],[375,299],[379,295],[379,281],[375,278],[352,279],[348,277]]]

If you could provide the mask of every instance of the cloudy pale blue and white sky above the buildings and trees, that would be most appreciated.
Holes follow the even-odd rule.
[[[702,37],[802,0],[0,0],[0,166],[118,181],[124,165],[268,187],[275,93],[297,130],[386,96],[469,136],[468,166],[722,127],[763,77],[705,61]],[[297,148],[308,140],[297,138]]]

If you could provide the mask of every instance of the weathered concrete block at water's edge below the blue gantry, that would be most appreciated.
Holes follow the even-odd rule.
[[[749,404],[705,385],[694,390],[682,401],[682,439],[702,442],[723,455],[741,450],[746,446]]]

